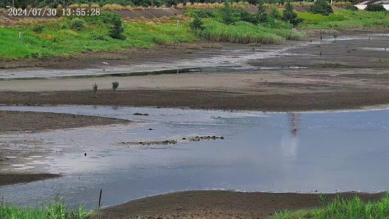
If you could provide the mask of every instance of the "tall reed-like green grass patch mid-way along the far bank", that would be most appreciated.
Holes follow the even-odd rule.
[[[289,29],[277,29],[239,21],[226,25],[214,19],[204,19],[204,29],[199,36],[211,41],[241,44],[282,44],[288,40],[304,40],[305,36]]]

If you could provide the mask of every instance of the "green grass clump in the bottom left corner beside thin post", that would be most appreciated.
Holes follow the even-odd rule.
[[[78,209],[69,209],[67,205],[56,199],[43,204],[42,207],[19,207],[10,204],[0,205],[2,219],[92,219],[98,218],[97,210],[86,210],[84,205]]]

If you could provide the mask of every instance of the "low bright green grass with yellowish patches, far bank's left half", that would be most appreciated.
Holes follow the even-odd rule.
[[[115,51],[125,48],[151,48],[157,44],[170,45],[192,42],[197,38],[176,22],[157,24],[152,22],[124,22],[126,40],[108,36],[106,25],[87,21],[83,30],[70,28],[70,18],[49,20],[44,23],[21,24],[0,28],[0,57],[2,58],[48,58],[66,56],[87,51]],[[34,31],[43,26],[43,31]],[[18,36],[23,32],[23,44]]]

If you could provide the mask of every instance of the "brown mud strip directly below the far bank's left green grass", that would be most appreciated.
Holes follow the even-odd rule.
[[[198,41],[195,44],[201,43],[208,42]],[[45,67],[50,69],[86,69],[101,67],[103,69],[104,67],[112,65],[134,65],[139,64],[140,62],[157,62],[164,59],[180,60],[182,58],[194,58],[204,52],[220,51],[219,49],[202,49],[190,50],[191,53],[185,53],[185,51],[189,50],[187,48],[190,48],[192,45],[193,44],[189,43],[177,43],[170,46],[156,46],[149,49],[131,48],[119,51],[84,52],[68,56],[52,57],[44,60],[11,60],[0,58],[0,69],[24,67]],[[109,63],[109,65],[103,64],[103,62]]]

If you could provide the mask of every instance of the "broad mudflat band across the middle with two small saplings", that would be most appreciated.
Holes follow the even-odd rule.
[[[204,79],[207,80],[204,80]],[[256,111],[356,109],[389,103],[386,69],[224,70],[178,75],[0,81],[0,104],[80,104]],[[95,97],[90,84],[101,89]],[[107,90],[119,81],[119,90]],[[16,91],[20,88],[21,91]],[[58,91],[60,89],[63,91]]]

